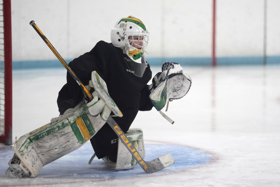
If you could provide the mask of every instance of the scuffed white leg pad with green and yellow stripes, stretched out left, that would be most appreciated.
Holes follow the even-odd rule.
[[[27,168],[25,171],[36,176],[44,165],[81,147],[105,123],[100,115],[88,114],[86,104],[81,102],[49,124],[20,137],[13,150]]]

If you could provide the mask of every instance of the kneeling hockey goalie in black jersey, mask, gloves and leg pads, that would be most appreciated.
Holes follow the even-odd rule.
[[[145,156],[143,132],[129,129],[137,112],[160,111],[167,101],[185,96],[191,79],[178,63],[167,62],[153,78],[144,52],[149,32],[133,16],[121,18],[111,30],[111,42],[94,48],[69,63],[69,67],[92,93],[86,101],[79,85],[67,72],[67,83],[58,94],[60,116],[16,140],[6,174],[37,176],[44,165],[71,153],[90,140],[94,155],[114,169],[136,166],[106,120],[112,116],[129,141]],[[41,126],[38,124],[38,126]]]

